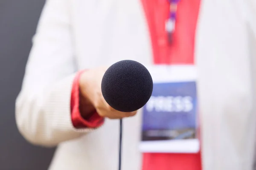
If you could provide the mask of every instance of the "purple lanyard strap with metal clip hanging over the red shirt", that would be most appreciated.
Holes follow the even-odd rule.
[[[176,12],[177,12],[177,4],[180,0],[168,0],[170,3],[170,12],[169,17],[166,20],[166,32],[167,32],[167,39],[169,44],[172,43],[172,35],[175,31],[175,21],[176,21]]]

